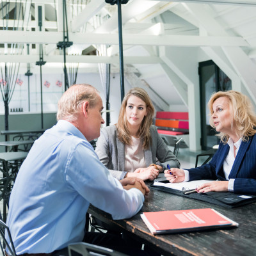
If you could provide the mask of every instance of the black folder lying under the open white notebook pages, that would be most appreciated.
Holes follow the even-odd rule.
[[[237,195],[232,192],[184,193],[184,191],[166,188],[163,186],[154,186],[154,184],[150,184],[150,188],[229,208],[239,207],[256,202],[255,195]]]

